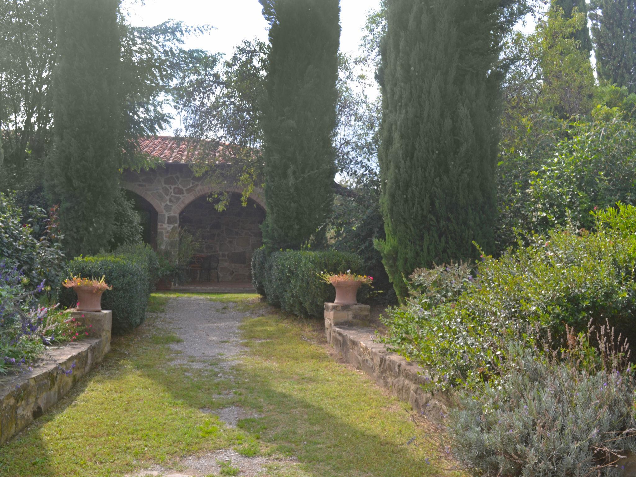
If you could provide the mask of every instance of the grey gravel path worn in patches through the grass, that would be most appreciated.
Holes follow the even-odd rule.
[[[235,303],[210,301],[205,298],[171,298],[165,313],[157,321],[157,328],[168,329],[183,340],[172,343],[170,347],[179,352],[175,355],[174,364],[182,364],[190,368],[211,366],[211,361],[221,371],[219,378],[232,378],[230,370],[239,362],[245,348],[240,345],[240,322],[249,313],[241,312]],[[218,396],[226,397],[226,396]],[[236,427],[240,419],[258,417],[246,413],[239,406],[209,410],[202,409],[211,415],[217,415],[230,427]],[[294,459],[290,459],[292,463]],[[217,475],[221,471],[219,462],[231,463],[239,467],[239,476],[265,477],[265,466],[272,462],[266,457],[244,457],[232,449],[219,450],[206,455],[186,457],[181,466],[185,471],[175,472],[163,467],[153,467],[128,477],[163,476],[163,477],[201,477]],[[280,460],[278,464],[284,464]]]

